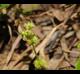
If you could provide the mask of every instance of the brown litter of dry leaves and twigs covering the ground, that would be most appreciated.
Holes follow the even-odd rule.
[[[0,70],[79,68],[80,5],[34,5],[14,4],[0,9]],[[29,45],[20,33],[30,21],[35,25],[31,32],[39,40],[35,46]]]

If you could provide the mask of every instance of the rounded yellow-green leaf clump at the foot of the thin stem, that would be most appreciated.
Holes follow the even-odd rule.
[[[36,69],[42,69],[47,67],[47,62],[43,60],[42,58],[37,58],[34,61],[34,66]]]

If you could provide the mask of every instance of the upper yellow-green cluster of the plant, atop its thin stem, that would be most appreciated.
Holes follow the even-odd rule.
[[[21,35],[24,41],[27,41],[27,43],[31,46],[35,46],[39,39],[38,37],[32,32],[32,28],[34,27],[34,24],[30,21],[28,23],[24,24],[24,30],[21,31]]]

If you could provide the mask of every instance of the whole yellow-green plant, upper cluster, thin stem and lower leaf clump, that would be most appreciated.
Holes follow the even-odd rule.
[[[34,49],[34,46],[38,44],[39,38],[32,32],[32,28],[34,28],[33,22],[28,22],[24,24],[23,30],[20,32],[22,38],[24,41],[27,41],[27,43],[33,47],[33,51],[36,54],[36,51]],[[36,69],[41,69],[43,67],[47,66],[47,63],[45,60],[37,56],[37,59],[34,61],[34,66]]]

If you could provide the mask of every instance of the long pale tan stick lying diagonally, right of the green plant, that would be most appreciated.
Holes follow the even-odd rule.
[[[55,28],[52,29],[52,31],[49,33],[49,35],[47,35],[47,37],[40,43],[40,45],[38,45],[36,48],[35,48],[35,51],[36,53],[38,53],[39,51],[43,51],[43,49],[45,48],[47,42],[51,39],[51,36],[53,35],[53,33],[59,28],[61,27],[63,24],[60,24],[58,26],[56,26]],[[30,55],[31,58],[34,58],[35,57],[35,54],[32,53]]]

